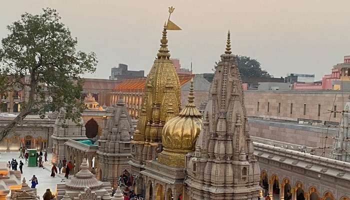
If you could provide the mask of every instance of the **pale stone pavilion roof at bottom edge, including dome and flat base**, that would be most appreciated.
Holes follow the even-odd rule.
[[[110,200],[110,182],[101,182],[88,170],[86,158],[82,159],[80,170],[66,183],[57,184],[57,200],[101,199]]]

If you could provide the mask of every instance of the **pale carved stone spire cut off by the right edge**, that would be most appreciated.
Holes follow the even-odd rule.
[[[349,122],[350,122],[350,95],[344,105],[344,112],[340,120],[338,130],[333,141],[333,150],[331,156],[333,159],[350,162],[350,137]]]

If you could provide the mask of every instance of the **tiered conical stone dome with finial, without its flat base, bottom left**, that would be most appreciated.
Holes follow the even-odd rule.
[[[82,159],[80,165],[80,171],[77,172],[74,177],[65,185],[71,189],[81,189],[85,187],[90,189],[102,187],[103,182],[98,181],[93,173],[88,170],[88,163],[86,158]]]

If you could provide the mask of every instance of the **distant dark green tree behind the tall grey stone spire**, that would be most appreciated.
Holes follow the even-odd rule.
[[[260,62],[256,59],[250,59],[248,56],[237,55],[237,64],[240,76],[242,78],[246,77],[271,77],[266,70],[261,69]],[[218,61],[215,62],[213,70],[217,68]]]

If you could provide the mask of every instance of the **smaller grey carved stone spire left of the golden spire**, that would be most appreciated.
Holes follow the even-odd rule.
[[[98,139],[98,179],[110,181],[114,186],[124,170],[131,172],[128,161],[131,159],[130,136],[133,132],[131,117],[123,100],[119,99]]]

